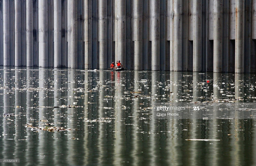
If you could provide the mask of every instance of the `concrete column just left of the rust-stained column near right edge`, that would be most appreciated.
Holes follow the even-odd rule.
[[[223,0],[214,0],[213,27],[213,72],[222,72]]]

